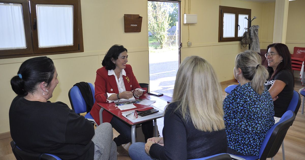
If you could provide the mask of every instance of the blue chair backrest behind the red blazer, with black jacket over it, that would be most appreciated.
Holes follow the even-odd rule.
[[[92,92],[92,96],[93,96],[93,103],[94,103],[95,102],[94,86],[91,83],[88,83],[88,84],[91,88],[91,92]],[[71,107],[75,111],[75,113],[79,114],[79,113],[87,112],[86,102],[83,98],[83,95],[81,94],[80,89],[77,86],[73,86],[69,90],[68,96],[69,96],[69,100],[70,100],[70,103],[71,103]]]

